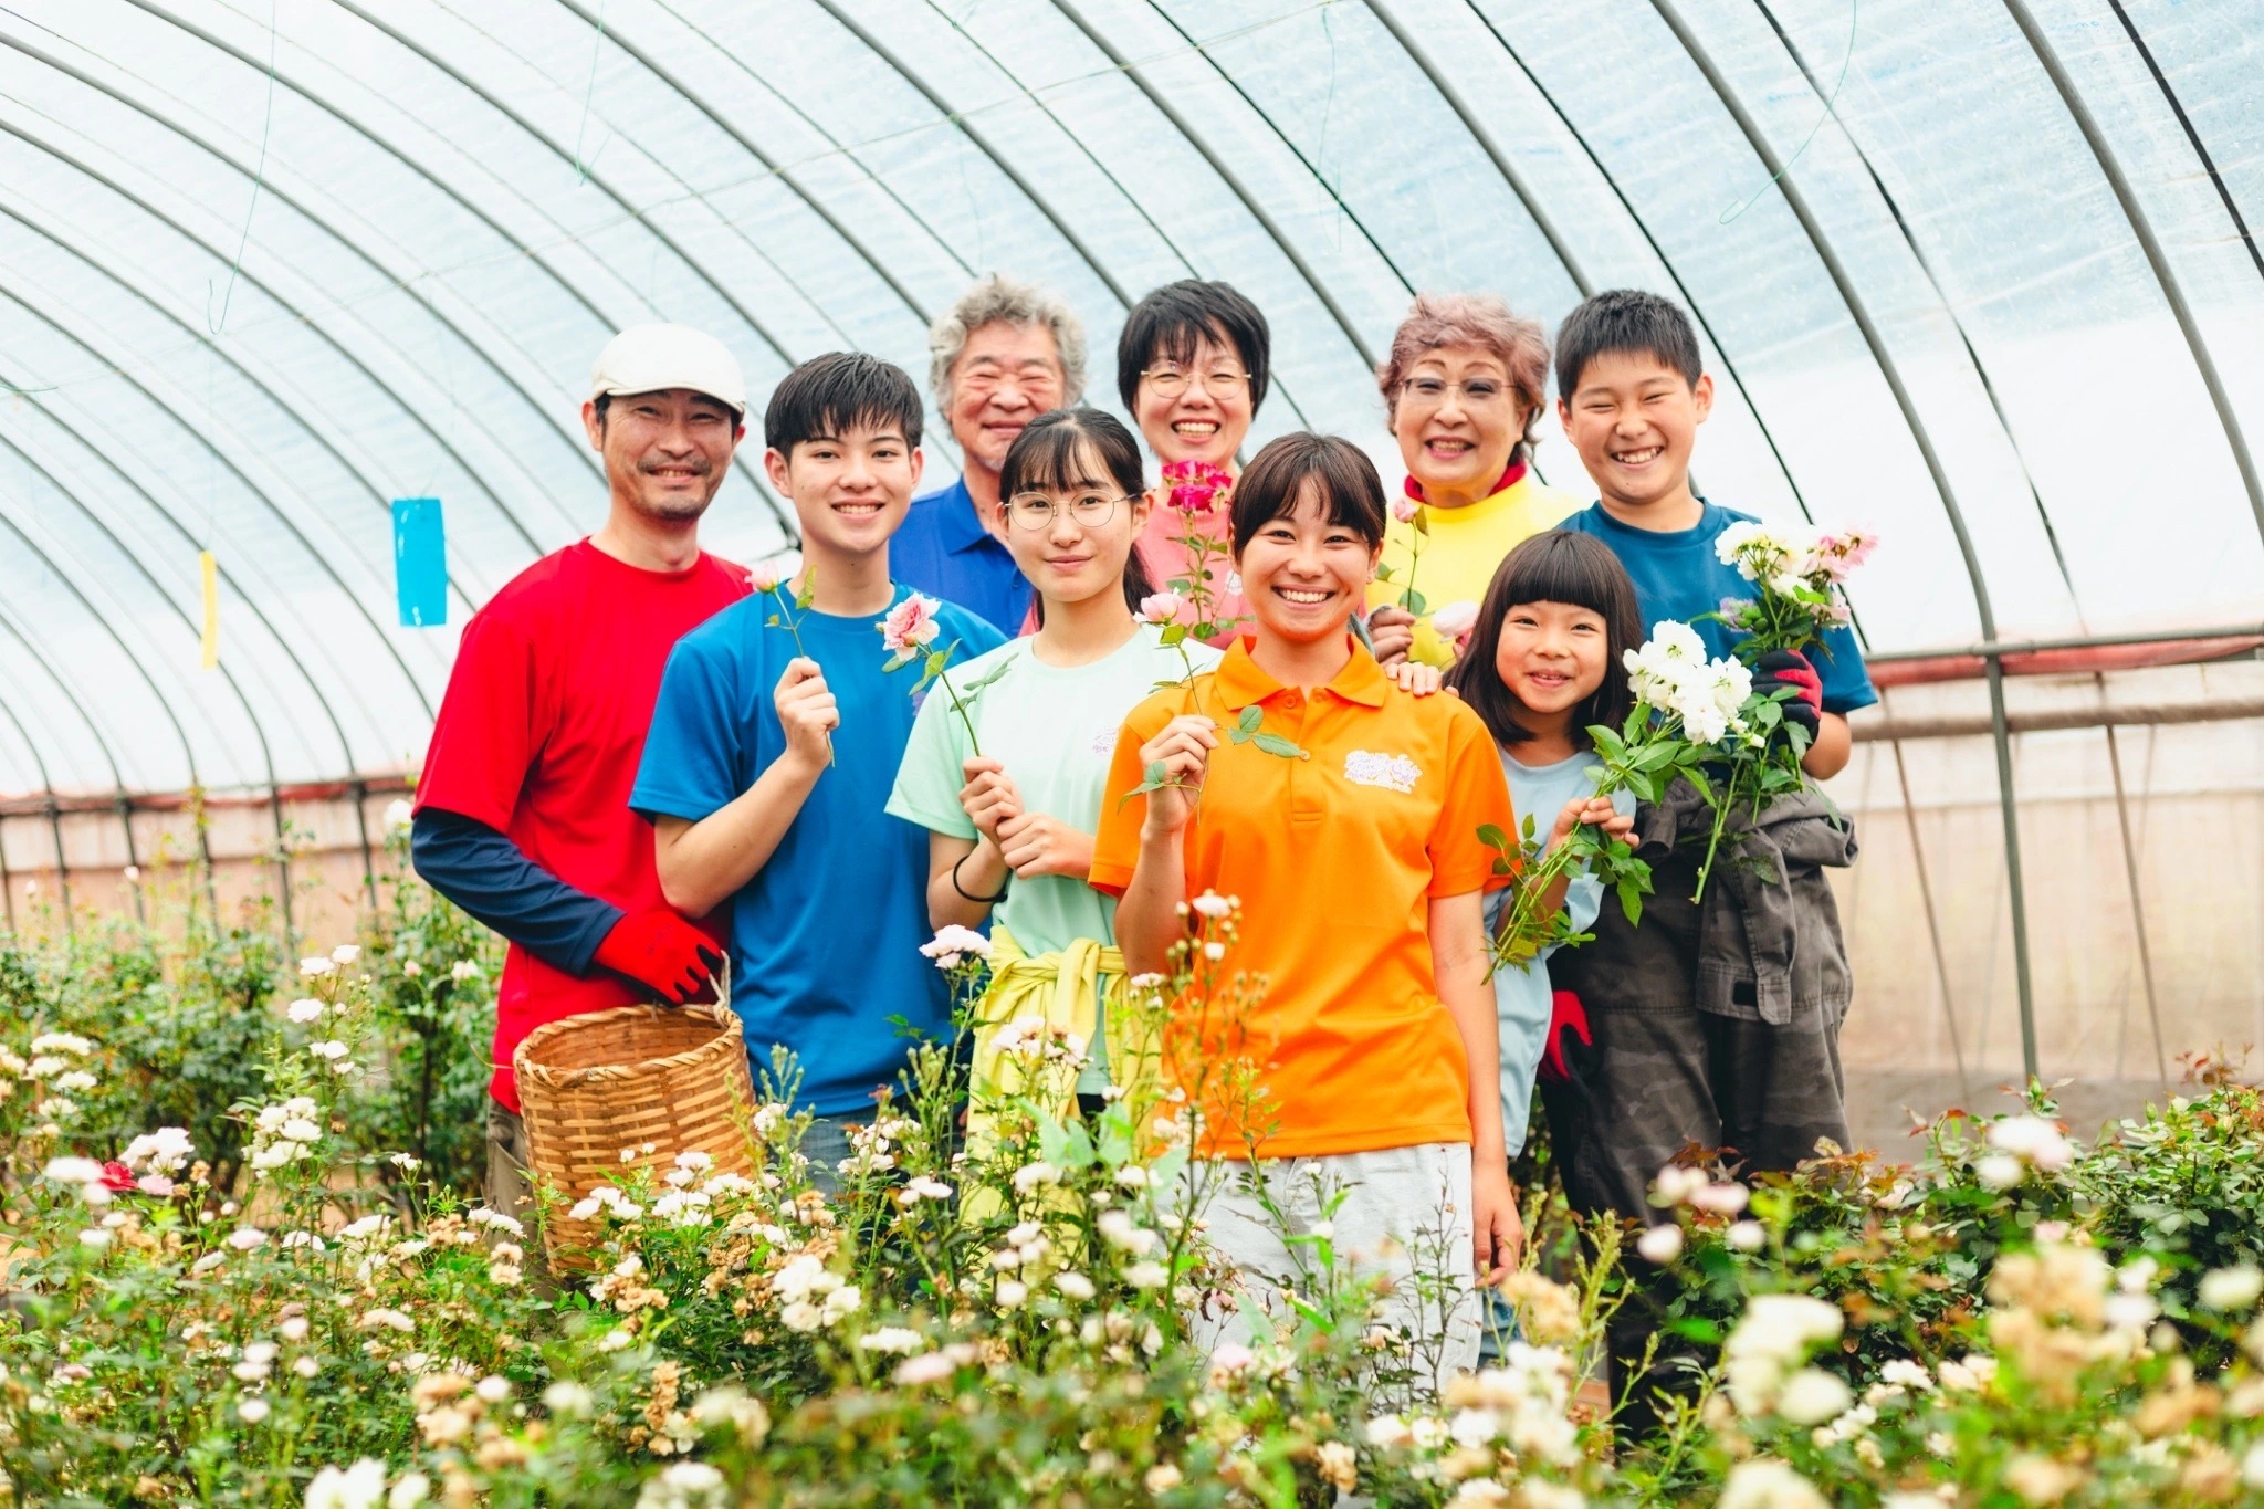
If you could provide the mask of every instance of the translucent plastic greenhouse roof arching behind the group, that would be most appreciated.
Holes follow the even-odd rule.
[[[1275,328],[1254,441],[1338,430],[1388,475],[1370,373],[1413,292],[1553,324],[1657,287],[1721,387],[1703,489],[1886,534],[1872,649],[2253,624],[2255,20],[5,0],[0,794],[401,769],[462,620],[602,516],[577,405],[614,328],[715,330],[761,403],[842,346],[924,376],[989,269],[1066,294],[1096,353],[1148,287],[1236,283]],[[711,514],[738,559],[790,545],[754,462]],[[1560,439],[1540,466],[1587,491]],[[446,507],[441,629],[398,627],[403,495]]]

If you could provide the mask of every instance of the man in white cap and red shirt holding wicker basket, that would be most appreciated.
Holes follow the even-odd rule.
[[[432,726],[417,873],[512,943],[487,1109],[487,1204],[507,1215],[530,1199],[521,1038],[580,1011],[684,1004],[724,959],[718,930],[661,898],[629,785],[668,652],[749,590],[745,568],[700,550],[745,416],[722,342],[686,326],[616,335],[582,405],[611,489],[604,527],[471,618]]]

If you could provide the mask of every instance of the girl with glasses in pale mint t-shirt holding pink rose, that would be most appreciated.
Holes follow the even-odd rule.
[[[1139,618],[1150,502],[1139,443],[1116,419],[1041,414],[1014,437],[998,486],[1037,631],[949,672],[960,688],[985,683],[969,706],[980,753],[951,699],[928,692],[887,810],[928,830],[931,925],[992,928],[978,1079],[1005,1023],[1044,1018],[1089,1045],[1075,1088],[1096,1111],[1112,1063],[1132,1075],[1107,1009],[1125,977],[1116,898],[1084,882],[1109,756],[1125,713],[1218,652],[1164,645]]]

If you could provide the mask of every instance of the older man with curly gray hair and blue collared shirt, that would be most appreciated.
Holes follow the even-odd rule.
[[[1084,394],[1084,326],[1055,294],[992,274],[928,330],[935,407],[964,457],[960,480],[912,500],[890,575],[1021,633],[1030,584],[1003,543],[998,468],[1046,409]]]

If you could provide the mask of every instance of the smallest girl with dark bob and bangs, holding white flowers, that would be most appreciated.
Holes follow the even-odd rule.
[[[1603,769],[1587,728],[1616,728],[1635,706],[1623,654],[1644,638],[1635,606],[1635,581],[1601,541],[1585,534],[1535,534],[1494,570],[1469,631],[1463,658],[1447,672],[1447,685],[1485,719],[1501,749],[1501,774],[1510,801],[1535,824],[1549,821],[1546,848],[1571,837],[1580,824],[1596,824],[1612,837],[1635,826],[1635,799],[1596,794]],[[1485,923],[1499,928],[1510,891],[1494,891]],[[1571,925],[1596,921],[1603,882],[1567,876],[1544,898],[1542,914],[1567,909]],[[1501,1131],[1510,1158],[1526,1142],[1533,1084],[1542,1061],[1551,1079],[1564,1077],[1555,1032],[1587,1036],[1580,1007],[1569,995],[1558,1009],[1549,989],[1546,952],[1521,968],[1494,971],[1494,1009],[1501,1023]],[[1553,1109],[1553,1106],[1551,1106]],[[1578,1124],[1558,1124],[1555,1152],[1567,1163],[1578,1145]],[[1569,1179],[1569,1176],[1567,1176]],[[1515,1314],[1499,1292],[1487,1319],[1487,1355],[1515,1335]]]

